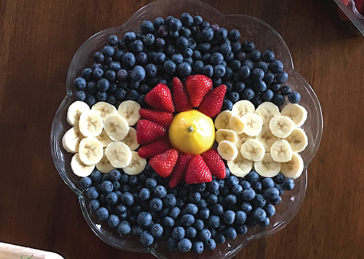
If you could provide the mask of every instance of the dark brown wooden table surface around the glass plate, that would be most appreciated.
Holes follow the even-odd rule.
[[[0,242],[67,259],[153,258],[110,247],[91,231],[54,167],[49,144],[76,50],[149,2],[0,1]],[[284,229],[254,240],[237,257],[363,258],[364,38],[352,35],[326,1],[206,2],[272,25],[324,116],[301,210]]]

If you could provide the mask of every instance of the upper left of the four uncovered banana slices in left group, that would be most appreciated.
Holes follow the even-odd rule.
[[[96,137],[102,132],[102,118],[97,112],[86,110],[80,116],[78,127],[85,137]]]

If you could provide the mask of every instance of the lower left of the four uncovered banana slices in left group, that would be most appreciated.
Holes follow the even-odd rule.
[[[94,137],[87,137],[81,140],[79,156],[85,165],[95,165],[100,162],[104,150],[102,144]]]

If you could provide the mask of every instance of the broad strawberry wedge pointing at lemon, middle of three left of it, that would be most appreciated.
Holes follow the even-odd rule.
[[[152,121],[139,120],[137,124],[137,142],[138,144],[144,145],[163,137],[166,135],[167,130]]]

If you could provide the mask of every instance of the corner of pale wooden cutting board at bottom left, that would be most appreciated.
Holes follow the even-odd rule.
[[[59,254],[0,242],[0,259],[64,259]]]

